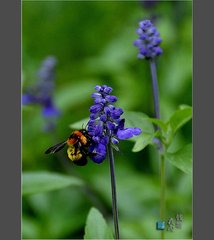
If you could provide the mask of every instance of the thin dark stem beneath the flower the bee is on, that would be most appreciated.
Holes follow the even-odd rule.
[[[116,179],[114,172],[114,155],[113,149],[108,145],[108,158],[110,164],[110,174],[111,174],[111,191],[112,191],[112,212],[114,219],[114,231],[115,231],[115,239],[120,239],[119,233],[119,222],[118,222],[118,208],[117,208],[117,192],[116,192]]]

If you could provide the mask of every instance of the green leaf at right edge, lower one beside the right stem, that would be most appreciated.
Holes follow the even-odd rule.
[[[192,144],[188,144],[174,153],[166,153],[166,159],[185,173],[192,173]]]

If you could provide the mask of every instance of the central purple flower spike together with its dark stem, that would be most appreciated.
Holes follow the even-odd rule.
[[[113,147],[118,149],[117,145],[120,140],[138,136],[142,130],[140,128],[125,127],[125,119],[121,118],[123,110],[114,106],[117,97],[111,95],[113,91],[111,87],[97,85],[95,86],[95,90],[96,92],[91,95],[94,99],[94,104],[89,109],[91,114],[88,122],[88,134],[92,139],[89,152],[92,161],[98,164],[102,163],[106,155],[108,155],[114,232],[115,239],[120,239]]]

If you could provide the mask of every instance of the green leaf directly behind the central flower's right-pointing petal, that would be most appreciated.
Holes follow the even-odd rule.
[[[142,130],[139,136],[130,139],[135,142],[133,152],[139,152],[153,143],[154,127],[146,114],[142,112],[126,112],[124,118],[126,119],[125,127],[138,127]]]

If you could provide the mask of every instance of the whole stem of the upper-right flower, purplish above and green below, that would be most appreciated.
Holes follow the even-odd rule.
[[[155,117],[160,119],[160,103],[159,103],[159,93],[158,93],[158,79],[157,79],[157,71],[156,71],[156,64],[155,60],[150,60],[150,69],[152,75],[152,90],[153,90],[153,98],[154,98],[154,111]],[[159,130],[159,127],[155,126],[155,130]],[[164,221],[165,219],[165,190],[166,190],[166,183],[165,183],[165,160],[163,154],[163,146],[162,143],[159,141],[158,153],[160,157],[160,219]],[[161,231],[161,239],[164,239],[164,231]]]

